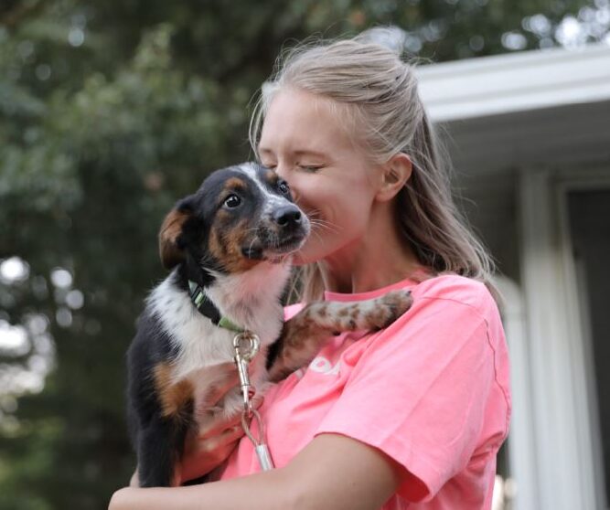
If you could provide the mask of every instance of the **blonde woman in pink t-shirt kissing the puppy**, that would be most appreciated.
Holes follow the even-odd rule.
[[[412,309],[335,338],[267,393],[277,469],[258,473],[248,440],[230,454],[234,423],[208,424],[183,479],[230,454],[219,482],[123,489],[112,510],[489,508],[507,349],[487,254],[455,211],[412,68],[366,34],[294,50],[263,87],[251,141],[317,226],[296,260],[303,300],[409,288]]]

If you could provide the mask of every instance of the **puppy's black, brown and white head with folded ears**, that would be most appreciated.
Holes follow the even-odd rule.
[[[159,251],[167,269],[190,256],[200,266],[238,273],[262,260],[284,260],[309,230],[285,181],[244,163],[217,170],[177,203],[159,232]]]

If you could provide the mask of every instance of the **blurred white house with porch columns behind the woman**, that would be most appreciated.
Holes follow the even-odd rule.
[[[424,66],[455,189],[498,261],[516,510],[610,508],[610,47]]]

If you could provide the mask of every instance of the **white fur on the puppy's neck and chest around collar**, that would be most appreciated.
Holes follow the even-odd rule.
[[[198,313],[187,292],[173,283],[175,271],[155,287],[147,303],[177,347],[177,358],[172,360],[172,378],[177,382],[199,368],[232,362],[235,333]],[[261,351],[251,361],[250,370],[251,382],[259,391],[267,382],[267,347],[282,330],[280,297],[289,274],[288,264],[261,262],[239,275],[215,274],[216,282],[204,291],[222,315],[259,335]],[[227,396],[222,407],[227,416],[241,409],[238,389]]]

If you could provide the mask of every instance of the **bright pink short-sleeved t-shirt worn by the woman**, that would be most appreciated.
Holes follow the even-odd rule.
[[[397,288],[410,289],[413,304],[394,324],[331,338],[309,367],[267,392],[261,414],[273,462],[282,467],[317,434],[337,433],[385,452],[425,485],[422,497],[421,483],[405,476],[382,510],[490,508],[510,417],[498,307],[485,285],[455,275],[326,292],[326,300],[359,301]],[[221,478],[258,471],[244,438]]]

